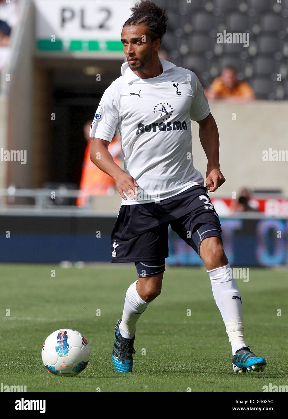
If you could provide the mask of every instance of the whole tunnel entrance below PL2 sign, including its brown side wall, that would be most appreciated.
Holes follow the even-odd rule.
[[[93,119],[105,89],[121,75],[123,60],[36,58],[33,78],[32,187],[47,182],[79,186]]]

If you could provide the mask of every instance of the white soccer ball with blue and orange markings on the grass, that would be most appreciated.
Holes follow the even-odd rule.
[[[52,374],[72,377],[87,366],[90,346],[77,330],[59,329],[45,340],[41,356],[43,364]]]

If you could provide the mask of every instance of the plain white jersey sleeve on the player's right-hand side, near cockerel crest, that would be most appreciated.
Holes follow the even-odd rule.
[[[190,81],[190,85],[193,91],[193,99],[190,108],[190,118],[193,121],[201,121],[209,115],[210,109],[208,100],[198,77],[194,73],[192,73],[192,75],[193,77]]]

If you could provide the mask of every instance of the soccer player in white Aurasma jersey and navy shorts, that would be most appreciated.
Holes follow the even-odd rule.
[[[207,195],[225,182],[216,122],[196,75],[158,57],[167,29],[165,9],[144,0],[131,12],[121,34],[127,62],[105,90],[90,130],[91,160],[115,179],[123,198],[111,233],[112,262],[134,262],[138,276],[116,323],[113,365],[118,372],[132,370],[136,322],[161,292],[170,224],[206,266],[231,342],[234,372],[262,371],[265,359],[244,341],[241,296]],[[208,160],[207,187],[193,166],[191,119],[199,124]],[[107,150],[117,127],[124,171]]]

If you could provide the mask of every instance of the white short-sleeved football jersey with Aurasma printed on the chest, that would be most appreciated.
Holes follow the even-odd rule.
[[[192,71],[160,62],[162,74],[146,79],[124,63],[91,125],[90,137],[111,142],[117,127],[121,134],[124,170],[139,185],[137,198],[127,197],[122,205],[157,202],[204,186],[193,166],[191,119],[208,116],[207,98]]]

